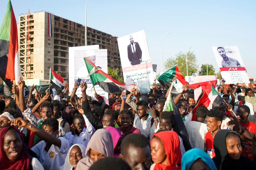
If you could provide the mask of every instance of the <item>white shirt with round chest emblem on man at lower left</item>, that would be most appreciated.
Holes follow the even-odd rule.
[[[59,170],[65,162],[69,150],[69,142],[67,139],[60,137],[61,147],[52,145],[48,152],[45,151],[46,142],[43,140],[31,148],[34,151],[45,170]]]

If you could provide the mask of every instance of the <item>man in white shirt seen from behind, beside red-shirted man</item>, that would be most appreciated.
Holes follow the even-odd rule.
[[[199,106],[196,112],[197,120],[186,123],[189,142],[192,148],[206,149],[204,137],[208,130],[207,125],[203,122],[207,112],[209,110],[205,106]]]

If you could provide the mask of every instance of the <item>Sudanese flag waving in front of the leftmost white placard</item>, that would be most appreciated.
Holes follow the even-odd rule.
[[[108,74],[103,72],[100,67],[96,67],[91,61],[89,61],[87,58],[84,58],[85,65],[87,67],[87,71],[89,73],[91,83],[93,86],[99,85],[105,92],[109,93],[120,93],[124,89],[127,91],[131,91],[134,84],[131,85],[124,85],[112,77],[110,77]]]

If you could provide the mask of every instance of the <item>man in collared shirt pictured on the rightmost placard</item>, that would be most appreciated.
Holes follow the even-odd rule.
[[[236,59],[226,55],[226,51],[223,47],[218,47],[217,51],[223,59],[221,62],[222,67],[241,67],[241,64]]]

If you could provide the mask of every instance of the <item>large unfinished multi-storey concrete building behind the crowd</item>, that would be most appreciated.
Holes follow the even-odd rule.
[[[85,46],[82,24],[42,11],[20,15],[18,20],[20,67],[25,79],[49,80],[49,68],[69,78],[68,48]],[[87,27],[87,45],[108,50],[108,67],[122,76],[117,37]]]

